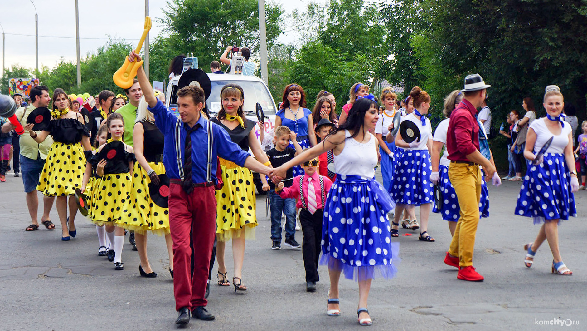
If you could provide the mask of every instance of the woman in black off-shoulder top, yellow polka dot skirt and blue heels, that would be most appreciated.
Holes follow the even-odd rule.
[[[25,126],[25,129],[31,133],[31,138],[38,143],[44,142],[49,135],[53,139],[39,177],[37,190],[46,196],[57,196],[57,213],[63,229],[61,234],[63,241],[68,241],[70,237],[75,238],[77,235],[75,228],[77,205],[73,193],[82,186],[86,165],[83,151],[90,149],[90,133],[84,125],[83,116],[69,111],[69,106],[68,95],[62,89],[56,89],[53,93],[54,110],[51,112],[53,119],[49,122],[49,127],[37,133],[32,131],[33,124]]]

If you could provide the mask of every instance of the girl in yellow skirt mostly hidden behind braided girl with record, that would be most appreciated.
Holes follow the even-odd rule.
[[[82,192],[86,196],[86,205],[87,205],[87,218],[93,219],[93,208],[92,208],[92,196],[93,192],[97,192],[97,183],[98,178],[96,174],[96,169],[93,168],[92,157],[96,155],[98,152],[98,148],[102,145],[106,144],[106,139],[108,137],[108,128],[106,124],[100,126],[100,128],[96,132],[96,140],[94,141],[94,146],[92,146],[92,151],[86,151],[86,172],[83,174],[82,180]],[[98,242],[100,244],[98,248],[98,256],[106,256],[108,252],[108,248],[110,246],[114,247],[114,243],[111,243],[108,237],[106,236],[106,229],[104,228],[104,222],[97,222],[96,224],[96,232],[98,234]]]

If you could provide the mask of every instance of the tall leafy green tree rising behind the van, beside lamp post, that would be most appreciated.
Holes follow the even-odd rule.
[[[158,22],[169,34],[161,44],[174,49],[174,55],[193,52],[200,68],[218,60],[228,45],[259,48],[259,6],[257,0],[170,0]],[[284,11],[275,4],[265,5],[266,39],[269,48],[282,34]],[[171,58],[167,59],[170,61]],[[167,62],[168,63],[168,62]]]

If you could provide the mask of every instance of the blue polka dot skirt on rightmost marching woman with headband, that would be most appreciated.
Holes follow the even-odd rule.
[[[515,215],[531,217],[534,224],[577,216],[575,195],[571,192],[571,173],[562,154],[546,153],[540,165],[528,166]]]

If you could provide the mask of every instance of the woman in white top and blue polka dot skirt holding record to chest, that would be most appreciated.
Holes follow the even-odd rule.
[[[430,163],[430,149],[432,148],[432,128],[430,120],[426,118],[430,108],[430,95],[418,86],[410,91],[414,102],[414,111],[402,118],[402,122],[411,121],[420,130],[420,139],[407,143],[402,133],[397,132],[396,146],[404,149],[394,170],[392,196],[397,205],[406,209],[420,206],[420,236],[419,240],[433,242],[434,238],[428,235],[428,218],[431,203],[434,201],[434,190],[430,182],[432,172]],[[399,223],[392,223],[392,236],[397,236]]]

